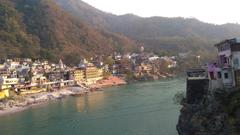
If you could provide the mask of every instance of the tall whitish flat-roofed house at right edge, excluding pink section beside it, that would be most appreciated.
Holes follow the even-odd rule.
[[[240,38],[224,40],[218,49],[217,67],[225,88],[240,87]]]

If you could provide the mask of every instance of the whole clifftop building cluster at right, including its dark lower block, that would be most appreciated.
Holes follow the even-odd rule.
[[[218,50],[215,62],[203,69],[187,71],[188,104],[204,103],[216,91],[232,92],[240,88],[240,38],[224,40],[215,47]]]

